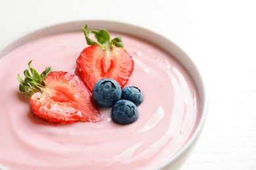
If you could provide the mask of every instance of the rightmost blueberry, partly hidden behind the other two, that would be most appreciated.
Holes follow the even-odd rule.
[[[126,88],[123,88],[121,99],[126,99],[129,101],[133,101],[135,105],[139,106],[140,103],[143,101],[143,95],[140,92],[139,88],[135,86],[128,86]]]

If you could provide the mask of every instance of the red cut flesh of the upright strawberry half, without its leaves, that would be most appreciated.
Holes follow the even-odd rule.
[[[110,51],[92,45],[85,48],[77,58],[79,74],[90,90],[102,78],[112,78],[123,88],[133,67],[132,57],[121,47],[114,47]]]

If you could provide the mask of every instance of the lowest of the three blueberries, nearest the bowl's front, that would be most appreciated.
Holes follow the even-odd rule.
[[[138,110],[135,103],[129,100],[119,100],[112,107],[111,118],[117,124],[126,125],[138,120]]]

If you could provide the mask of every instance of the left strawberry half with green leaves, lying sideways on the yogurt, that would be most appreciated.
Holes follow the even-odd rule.
[[[35,116],[51,123],[97,122],[102,116],[83,81],[71,73],[47,67],[41,75],[28,63],[25,79],[17,76],[20,92],[30,97]],[[31,73],[31,74],[30,74]]]

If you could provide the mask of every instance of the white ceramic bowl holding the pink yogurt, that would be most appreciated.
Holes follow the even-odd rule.
[[[104,28],[108,29],[108,31],[121,32],[135,37],[139,37],[140,39],[151,42],[156,46],[158,46],[158,44],[161,44],[161,48],[177,58],[191,74],[194,82],[196,83],[196,88],[198,89],[200,97],[200,121],[196,127],[196,130],[194,131],[194,134],[192,135],[192,137],[190,137],[189,141],[184,144],[181,150],[179,150],[179,152],[177,152],[177,154],[175,154],[175,156],[173,156],[169,161],[158,167],[158,169],[179,169],[192,152],[194,146],[196,145],[196,141],[198,140],[200,133],[203,129],[203,123],[205,122],[205,115],[207,109],[207,97],[205,93],[205,87],[203,85],[203,80],[200,76],[198,68],[190,59],[190,57],[170,39],[167,39],[159,35],[158,33],[155,33],[148,29],[120,22],[99,20],[67,22],[64,24],[56,24],[45,27],[43,29],[39,29],[37,31],[33,31],[32,33],[29,33],[27,35],[24,35],[23,37],[20,37],[19,39],[16,39],[15,41],[12,41],[11,43],[3,46],[0,49],[0,59],[3,58],[5,55],[9,54],[9,52],[12,52],[12,50],[18,48],[19,46],[22,46],[23,44],[26,44],[27,42],[33,41],[35,39],[39,39],[40,37],[55,35],[57,33],[66,33],[69,31],[81,31],[81,27],[83,27],[85,23],[88,24],[91,29]],[[1,167],[0,165],[0,169],[2,168],[3,167]]]

